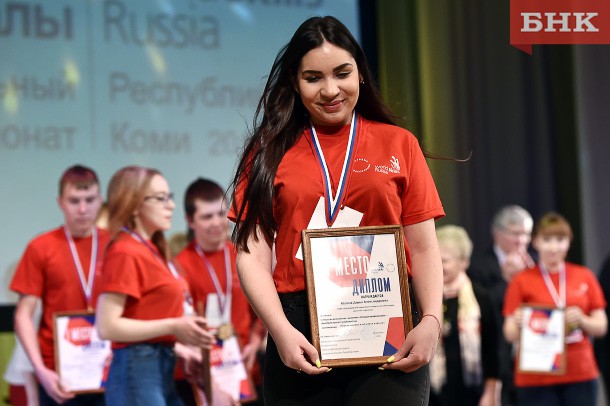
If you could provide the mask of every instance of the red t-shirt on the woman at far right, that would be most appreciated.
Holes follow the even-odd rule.
[[[578,306],[584,314],[604,309],[606,300],[597,278],[588,268],[566,262],[566,304]],[[555,289],[559,289],[559,273],[551,273]],[[538,266],[517,274],[509,283],[504,297],[504,316],[510,316],[523,304],[555,307]],[[591,340],[585,337],[567,345],[567,367],[563,375],[519,373],[515,368],[516,386],[544,386],[588,381],[597,378],[599,371],[595,362]]]

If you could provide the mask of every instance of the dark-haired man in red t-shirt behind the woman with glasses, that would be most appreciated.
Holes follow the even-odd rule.
[[[198,178],[187,188],[184,200],[191,241],[176,261],[189,283],[195,308],[205,308],[208,325],[220,339],[237,336],[244,364],[260,383],[255,361],[265,329],[239,284],[235,247],[228,241],[224,191],[216,182]]]

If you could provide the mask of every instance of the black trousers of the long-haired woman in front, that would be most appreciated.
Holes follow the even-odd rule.
[[[280,294],[280,300],[290,323],[310,339],[305,292]],[[413,321],[419,321],[416,311]],[[408,374],[365,366],[333,368],[325,374],[307,375],[284,365],[271,337],[267,341],[264,384],[267,406],[427,405],[430,394],[427,365]]]

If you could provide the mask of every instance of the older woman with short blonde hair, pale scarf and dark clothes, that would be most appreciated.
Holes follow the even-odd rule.
[[[443,335],[430,363],[430,405],[499,404],[499,327],[489,294],[466,275],[472,242],[462,227],[436,231],[443,262]]]

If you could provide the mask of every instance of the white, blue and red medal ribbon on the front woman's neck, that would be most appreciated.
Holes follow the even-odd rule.
[[[318,158],[318,163],[322,167],[322,175],[324,177],[324,196],[326,200],[326,223],[330,227],[339,214],[341,208],[341,202],[346,195],[346,183],[347,173],[349,172],[352,156],[354,154],[354,146],[356,145],[356,127],[357,127],[356,112],[352,115],[352,121],[349,131],[349,139],[347,141],[347,147],[345,149],[345,159],[343,160],[343,168],[341,169],[341,177],[339,178],[339,184],[337,185],[337,194],[333,196],[332,182],[330,179],[330,171],[318,140],[318,134],[313,124],[310,126],[311,138],[313,141],[315,155]]]

